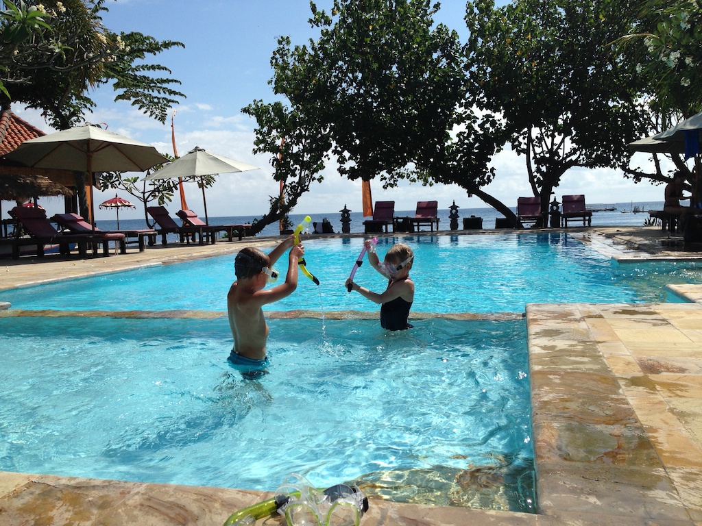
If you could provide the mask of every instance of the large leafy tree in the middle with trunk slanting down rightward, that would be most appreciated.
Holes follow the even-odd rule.
[[[335,0],[331,14],[310,6],[319,39],[294,48],[281,39],[271,60],[274,93],[289,101],[286,115],[310,126],[304,146],[289,136],[284,142],[288,148],[314,149],[305,169],[322,170],[329,147],[340,174],[350,179],[380,177],[385,187],[401,179],[457,182],[513,216],[481,190],[494,177],[489,160],[505,141],[496,119],[482,118],[465,105],[461,43],[456,32],[435,25],[439,5]],[[277,119],[274,128],[284,128],[283,112],[273,106],[267,122]],[[257,119],[263,139],[261,126],[268,125]],[[269,151],[277,163],[278,143],[260,144],[258,151]]]

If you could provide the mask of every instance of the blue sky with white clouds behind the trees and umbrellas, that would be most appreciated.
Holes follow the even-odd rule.
[[[241,113],[254,100],[273,102],[268,81],[272,77],[270,57],[277,47],[277,37],[290,36],[294,44],[305,44],[315,36],[307,20],[309,0],[107,0],[109,9],[103,22],[115,32],[138,31],[158,40],[175,40],[185,44],[160,53],[155,62],[173,72],[172,78],[182,82],[178,88],[187,98],[173,109],[178,154],[183,156],[194,147],[243,161],[260,170],[239,174],[222,174],[206,189],[209,217],[260,217],[269,209],[270,196],[277,195],[278,183],[272,178],[270,156],[254,155],[253,140],[256,121]],[[317,0],[319,8],[329,9],[332,0]],[[445,0],[435,19],[456,29],[465,39],[463,22],[465,2]],[[102,86],[90,93],[97,103],[86,121],[104,123],[107,129],[152,144],[162,153],[173,155],[171,119],[161,124],[141,114],[128,102],[114,102],[111,86]],[[13,106],[13,112],[46,133],[53,130],[41,114]],[[647,156],[637,159],[640,165]],[[495,156],[492,166],[497,177],[484,187],[489,194],[508,206],[517,204],[517,197],[531,196],[526,161],[512,151]],[[338,175],[329,163],[324,181],[313,184],[310,192],[298,202],[293,213],[336,215],[346,205],[352,211],[362,210],[359,181],[348,181]],[[395,201],[395,210],[414,210],[417,201],[438,201],[445,209],[453,201],[461,208],[483,208],[479,198],[468,197],[456,185],[437,184],[423,187],[404,183],[396,189],[383,190],[379,181],[371,182],[373,201]],[[124,198],[131,196],[117,191]],[[204,215],[201,191],[195,184],[186,184],[189,208]],[[114,197],[115,191],[95,191],[95,203]],[[562,177],[556,196],[585,194],[588,203],[628,201],[662,201],[663,187],[648,182],[635,184],[625,179],[621,170],[573,169]],[[49,213],[62,212],[62,199],[41,198]],[[180,208],[179,201],[168,203],[171,215]],[[143,217],[143,210],[121,210],[122,218]],[[96,220],[114,219],[113,210],[95,210]]]

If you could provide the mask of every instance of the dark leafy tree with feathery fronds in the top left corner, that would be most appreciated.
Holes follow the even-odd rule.
[[[51,126],[64,130],[84,121],[84,114],[95,107],[88,90],[100,85],[112,83],[118,92],[115,100],[131,101],[161,123],[178,102],[176,97],[185,97],[171,88],[180,83],[176,79],[152,76],[170,74],[168,68],[144,62],[147,55],[183,47],[183,43],[157,41],[136,32],[111,32],[100,18],[107,11],[105,0],[4,4],[8,9],[0,18],[3,106],[19,102],[40,109]],[[119,183],[112,175],[105,176],[103,184],[130,186],[128,180]],[[76,188],[81,213],[86,215],[84,174],[76,174]],[[153,191],[149,195],[159,202],[170,195],[162,185],[155,185]]]

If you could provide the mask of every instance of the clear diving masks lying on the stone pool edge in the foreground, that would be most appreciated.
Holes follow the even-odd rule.
[[[368,499],[357,486],[338,484],[317,490],[298,473],[286,476],[275,501],[288,526],[358,526],[368,511]]]

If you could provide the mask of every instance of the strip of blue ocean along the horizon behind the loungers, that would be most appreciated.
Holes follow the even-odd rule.
[[[603,210],[611,209],[614,210]],[[628,203],[595,203],[588,204],[588,209],[593,210],[592,213],[592,226],[593,227],[625,227],[625,226],[643,226],[644,221],[649,219],[648,210],[663,210],[663,201],[649,201],[649,202],[628,202]],[[515,210],[515,208],[512,208]],[[637,210],[643,210],[643,212],[637,212]],[[448,230],[450,228],[451,220],[449,220],[448,208],[438,211],[439,217],[439,229]],[[340,213],[326,213],[326,214],[291,214],[290,220],[293,222],[293,228],[296,227],[300,222],[303,221],[306,215],[312,217],[312,222],[321,222],[325,217],[331,222],[331,226],[335,232],[341,231],[341,214]],[[404,217],[414,215],[414,210],[395,210],[395,217]],[[460,219],[458,220],[458,228],[463,228],[463,218],[464,217],[481,217],[482,226],[484,229],[494,229],[496,219],[498,217],[503,217],[501,213],[496,212],[493,208],[458,208],[458,215]],[[178,217],[173,216],[176,222],[180,224]],[[363,222],[369,217],[363,217],[360,212],[352,212],[350,214],[351,223],[350,228],[352,233],[362,233],[364,231]],[[210,217],[209,224],[242,224],[250,223],[253,221],[254,217],[247,215],[232,215],[226,217]],[[117,229],[117,221],[110,220],[98,220],[98,227],[102,230],[114,230]],[[574,226],[577,222],[572,223]],[[144,220],[119,220],[119,226],[122,229],[143,229],[146,228]],[[422,227],[422,230],[426,230],[428,227]],[[310,231],[313,231],[310,225]],[[270,224],[258,236],[278,236],[279,229],[277,222]]]

